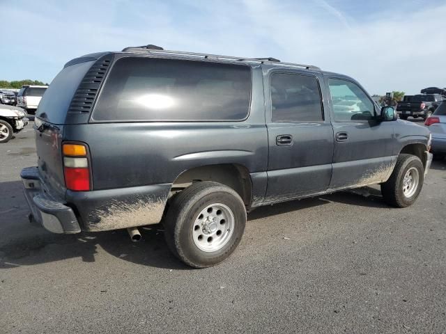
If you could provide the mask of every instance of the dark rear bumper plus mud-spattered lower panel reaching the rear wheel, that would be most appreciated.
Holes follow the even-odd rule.
[[[31,214],[54,233],[118,230],[160,223],[171,184],[96,191],[66,191],[63,200],[43,190],[37,167],[20,175]]]

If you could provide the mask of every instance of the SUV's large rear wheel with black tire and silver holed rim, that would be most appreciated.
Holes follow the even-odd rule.
[[[213,211],[207,214],[209,207]],[[226,219],[218,221],[221,217]],[[164,221],[164,237],[171,252],[185,264],[206,268],[233,253],[245,224],[245,203],[236,191],[217,182],[197,182],[172,199]]]

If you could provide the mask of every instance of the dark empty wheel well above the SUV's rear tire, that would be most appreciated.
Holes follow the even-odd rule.
[[[245,166],[239,164],[218,164],[200,166],[185,170],[172,184],[171,195],[190,186],[194,182],[214,181],[237,191],[249,207],[252,200],[252,180]]]

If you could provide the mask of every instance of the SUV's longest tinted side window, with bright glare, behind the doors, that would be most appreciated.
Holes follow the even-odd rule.
[[[92,118],[244,120],[250,97],[247,65],[127,57],[116,61]]]

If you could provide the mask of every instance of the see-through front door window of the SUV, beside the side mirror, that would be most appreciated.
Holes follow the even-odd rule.
[[[328,86],[332,97],[334,122],[374,118],[374,104],[359,86],[342,79],[328,79]]]

